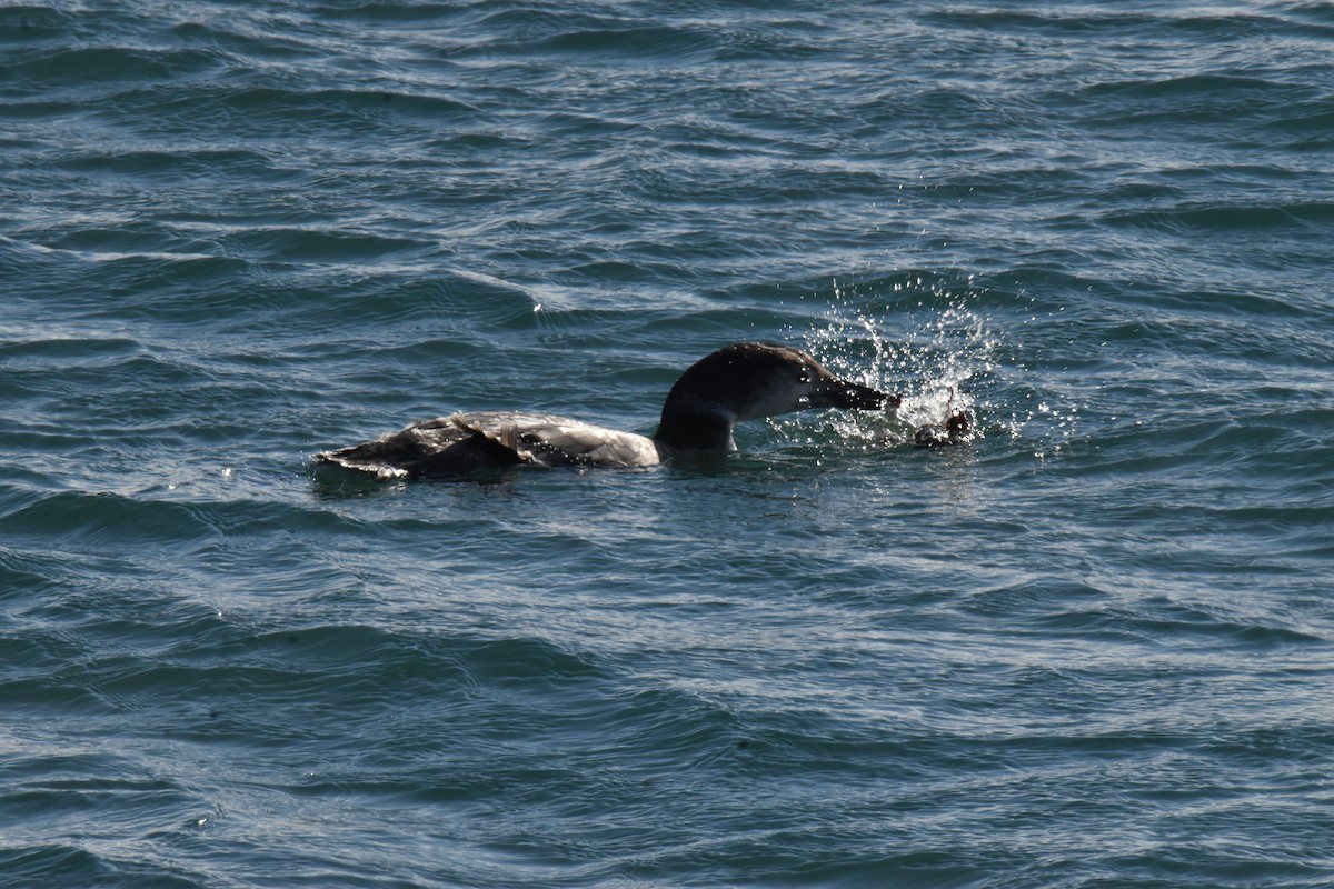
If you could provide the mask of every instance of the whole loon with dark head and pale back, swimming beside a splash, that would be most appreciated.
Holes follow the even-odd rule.
[[[732,427],[792,411],[879,411],[902,399],[840,380],[800,349],[736,343],[691,365],[667,395],[652,437],[548,413],[484,411],[415,423],[375,441],[315,454],[380,480],[483,469],[651,466],[680,450],[735,450]]]

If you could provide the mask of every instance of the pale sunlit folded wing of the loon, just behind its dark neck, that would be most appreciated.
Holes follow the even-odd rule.
[[[484,436],[519,462],[540,466],[652,466],[662,462],[647,436],[618,432],[550,413],[486,411],[448,417],[459,429]]]

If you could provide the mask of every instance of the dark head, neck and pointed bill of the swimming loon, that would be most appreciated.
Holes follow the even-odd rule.
[[[663,404],[654,440],[671,448],[735,450],[732,427],[794,411],[879,411],[900,399],[842,380],[800,349],[736,343],[680,375]]]

